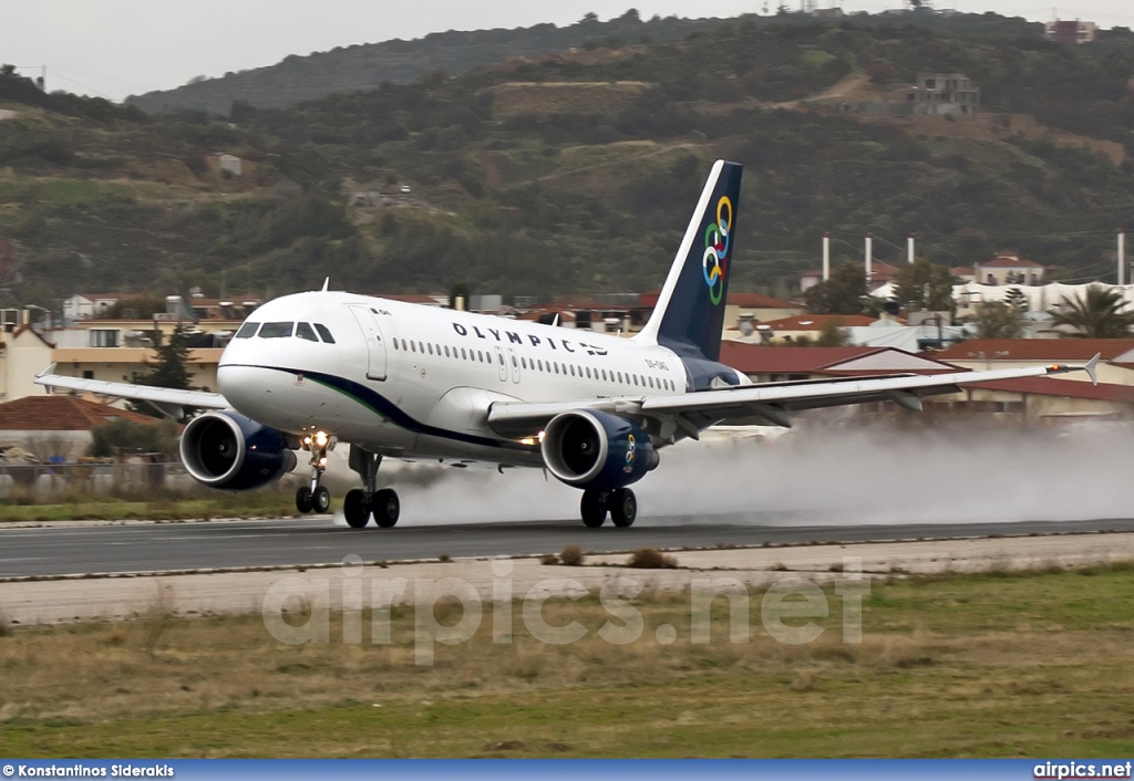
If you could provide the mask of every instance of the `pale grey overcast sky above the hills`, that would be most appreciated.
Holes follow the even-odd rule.
[[[937,8],[996,11],[1047,22],[1086,19],[1134,28],[1134,0],[932,0]],[[637,8],[653,15],[730,17],[775,11],[779,0],[0,0],[0,62],[27,76],[46,67],[48,90],[101,95],[169,90],[196,76],[274,65],[288,54],[415,39],[447,29],[568,25]],[[798,8],[799,0],[784,0]],[[816,0],[819,7],[837,0]],[[843,0],[843,9],[882,11],[904,0]]]

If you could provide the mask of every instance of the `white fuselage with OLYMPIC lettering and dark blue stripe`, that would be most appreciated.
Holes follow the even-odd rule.
[[[665,347],[354,294],[285,296],[260,307],[242,334],[251,323],[311,328],[282,337],[261,329],[229,343],[218,376],[237,411],[389,456],[540,465],[535,442],[488,427],[492,402],[687,391],[682,360]],[[315,336],[324,332],[333,343]]]

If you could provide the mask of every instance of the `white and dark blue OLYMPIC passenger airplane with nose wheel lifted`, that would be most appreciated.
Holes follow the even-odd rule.
[[[589,527],[632,526],[629,487],[665,448],[716,424],[790,426],[799,410],[921,400],[972,384],[1086,371],[1050,365],[937,375],[890,375],[753,384],[720,363],[721,330],[735,257],[742,165],[718,160],[705,181],[657,308],[632,338],[439,309],[350,292],[282,296],[257,308],[225,348],[219,393],[54,374],[51,389],[153,402],[186,425],[180,457],[214,489],[243,491],[296,468],[301,512],[327,512],[327,452],[349,444],[362,485],[342,502],[354,528],[397,524],[400,502],[380,487],[383,458],[438,459],[543,468],[583,491]]]

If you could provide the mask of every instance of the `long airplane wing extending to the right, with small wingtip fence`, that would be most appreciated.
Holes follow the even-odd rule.
[[[489,410],[488,424],[503,436],[532,436],[560,413],[599,409],[631,417],[670,422],[689,436],[719,423],[770,423],[792,425],[792,413],[820,407],[836,407],[870,401],[894,401],[899,407],[921,411],[925,396],[955,393],[958,385],[973,385],[998,380],[1044,376],[1084,371],[1095,382],[1099,356],[1085,365],[1051,364],[988,372],[949,372],[946,374],[909,374],[883,377],[844,377],[830,381],[737,385],[721,390],[667,396],[587,399],[543,404],[497,402]],[[665,428],[663,428],[665,431]]]

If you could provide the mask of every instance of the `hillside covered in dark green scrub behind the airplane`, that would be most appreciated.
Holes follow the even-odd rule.
[[[897,262],[913,231],[945,265],[1010,247],[1072,278],[1112,269],[1134,213],[1128,31],[1068,49],[993,15],[697,24],[225,114],[64,109],[0,76],[17,112],[0,122],[9,282],[42,305],[328,274],[386,292],[655,289],[718,156],[746,165],[735,289],[789,295],[824,230],[836,262],[861,257],[866,231]],[[966,74],[982,113],[858,112],[905,100],[919,71]]]

